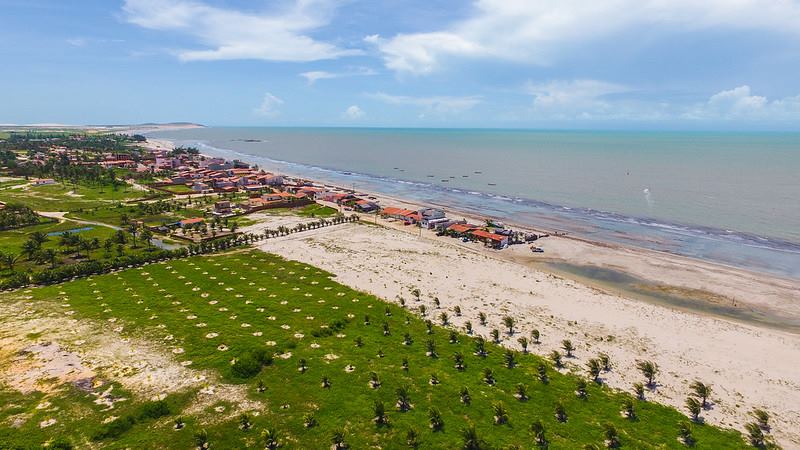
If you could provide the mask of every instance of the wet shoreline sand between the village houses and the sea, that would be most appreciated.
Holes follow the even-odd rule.
[[[170,139],[148,137],[148,142],[151,141],[156,148],[174,147],[174,142]],[[248,156],[233,150],[217,150],[219,154],[201,153],[207,157],[225,157],[226,159],[230,159],[231,153],[237,155],[237,158]],[[244,159],[243,161],[250,162]],[[260,164],[259,167],[265,170],[273,169],[262,167]],[[294,178],[309,179],[305,175],[287,172],[283,169],[280,170],[280,173]],[[311,181],[342,191],[352,191],[351,188],[342,186],[335,181],[320,179]],[[439,202],[418,202],[368,189],[356,190],[356,192],[377,198],[383,206],[393,205],[412,209],[432,206],[445,209],[451,217],[463,217],[475,223],[482,223],[485,219],[501,219],[516,230],[548,234],[558,231],[545,227],[531,227],[513,220],[479,214],[477,211],[468,209],[454,208]],[[537,246],[545,249],[544,254],[532,255],[530,252],[526,254],[527,245],[515,245],[501,251],[499,256],[515,263],[571,279],[594,289],[614,295],[623,295],[637,301],[736,323],[800,334],[800,304],[792,302],[793,299],[800,298],[800,280],[667,251],[593,240],[573,234],[551,235],[549,238],[536,242]],[[622,256],[625,256],[624,260],[621,258]],[[654,262],[651,264],[654,267],[642,270],[642,266],[649,262]],[[608,282],[589,276],[580,276],[574,271],[557,270],[552,267],[552,263],[567,263],[589,272],[592,272],[593,269],[601,269],[621,273],[644,283],[644,286],[637,286],[644,287],[644,289],[630,289],[620,282]],[[706,278],[714,280],[714,282],[705,281]],[[748,280],[750,283],[748,286],[742,286],[744,283],[740,283],[740,280]],[[646,292],[648,290],[649,294]],[[676,292],[679,293],[681,301],[666,301],[662,295],[665,290],[671,291],[672,296]],[[715,301],[717,305],[709,302],[709,299]],[[714,309],[719,309],[718,304],[723,301],[728,302],[729,307],[723,308],[721,311],[723,314],[719,311],[715,312]]]

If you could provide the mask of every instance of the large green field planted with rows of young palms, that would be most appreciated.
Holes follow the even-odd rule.
[[[0,301],[11,295],[0,296]],[[631,398],[628,394],[588,383],[588,398],[579,399],[574,393],[578,378],[559,373],[536,356],[516,354],[516,366],[507,368],[504,350],[490,343],[487,357],[475,356],[472,337],[457,334],[451,343],[450,330],[439,326],[429,335],[423,319],[409,310],[342,286],[312,266],[257,251],[152,264],[35,288],[26,295],[32,307],[57,315],[70,310],[75,312],[72,318],[98,324],[115,321],[124,326],[123,337],[149,339],[174,358],[191,361],[193,369],[216,371],[228,383],[245,386],[251,400],[265,405],[251,418],[252,429],[245,431],[236,418],[220,419],[213,408],[184,410],[192,392],[173,394],[166,399],[168,417],[138,421],[115,440],[103,442],[113,442],[114,448],[194,448],[192,436],[201,429],[208,432],[211,448],[263,448],[259,435],[267,427],[274,427],[284,448],[329,448],[338,429],[345,430],[353,449],[408,448],[406,433],[412,428],[419,433],[420,448],[460,448],[461,430],[467,425],[474,425],[494,448],[531,448],[528,430],[534,420],[544,424],[550,448],[602,445],[606,423],[617,428],[623,448],[683,447],[676,437],[678,422],[686,418],[674,409],[635,401],[637,418],[629,420],[620,414],[623,400]],[[441,312],[429,305],[429,316]],[[403,345],[405,333],[413,340],[410,345]],[[358,338],[360,346],[355,344]],[[428,340],[435,342],[438,358],[426,356]],[[256,366],[253,376],[237,376],[232,361],[252,361],[254,352],[273,355],[274,361],[260,371]],[[383,357],[378,356],[381,352]],[[463,371],[454,368],[455,352],[464,355]],[[307,363],[305,372],[298,370],[301,359]],[[404,359],[407,371],[402,369]],[[548,383],[537,378],[540,364],[547,368]],[[353,370],[346,370],[348,366]],[[484,368],[493,370],[496,384],[482,380]],[[379,387],[369,386],[370,372],[377,375]],[[440,384],[429,384],[433,374]],[[330,388],[321,387],[323,376],[329,378]],[[259,381],[266,386],[263,393],[257,390]],[[527,401],[515,398],[517,384],[527,386]],[[401,387],[408,389],[412,405],[407,412],[395,407],[395,392]],[[462,387],[472,397],[469,405],[460,401]],[[124,393],[124,386],[120,388]],[[58,409],[37,409],[43,394],[0,391],[0,405],[5,405],[0,406],[0,424],[11,416],[28,417],[18,429],[0,425],[0,447],[5,439],[39,448],[52,437],[88,447],[90,436],[108,427],[104,420],[139,414],[147,400],[132,398],[119,409],[104,411],[93,398],[66,386],[48,395]],[[384,403],[388,425],[373,421],[375,401]],[[507,424],[495,425],[496,402],[507,408]],[[557,402],[563,403],[566,422],[554,417]],[[220,400],[219,405],[226,403]],[[431,407],[441,412],[441,431],[428,425]],[[186,420],[181,431],[172,429],[171,420],[178,414]],[[304,426],[307,414],[315,416],[316,426]],[[48,419],[57,422],[41,428],[40,422]],[[708,425],[694,425],[694,437],[697,448],[744,447],[737,432]]]

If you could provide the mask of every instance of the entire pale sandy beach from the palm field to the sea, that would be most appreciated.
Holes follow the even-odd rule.
[[[383,206],[421,206],[365,194]],[[486,218],[452,209],[448,215],[474,223]],[[294,223],[269,214],[254,218],[258,223],[243,231]],[[511,315],[518,331],[504,344],[519,348],[516,339],[535,328],[542,342],[532,351],[547,355],[570,339],[578,350],[566,370],[581,374],[588,359],[606,353],[614,369],[603,382],[612,388],[631,391],[643,380],[637,361],[652,360],[660,374],[657,388],[646,395],[649,401],[684,411],[689,384],[700,380],[714,390],[711,407],[702,414],[709,423],[742,429],[752,421],[752,410],[763,408],[773,416],[778,442],[800,448],[797,281],[569,235],[538,240],[545,252],[532,254],[527,246],[490,250],[374,216],[362,221],[272,239],[259,248],[328,270],[339,282],[386,300],[403,298],[409,307],[417,306],[410,289],[419,288],[433,320],[446,309],[453,326],[470,320],[484,336],[502,329],[502,317]],[[559,264],[625,274],[639,295],[613,278],[583,277]],[[441,311],[434,308],[434,297]],[[453,314],[456,305],[462,317]],[[479,312],[488,315],[487,326],[478,324]]]

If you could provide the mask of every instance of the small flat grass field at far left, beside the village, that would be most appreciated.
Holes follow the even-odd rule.
[[[0,201],[22,203],[37,211],[74,211],[132,200],[144,195],[142,191],[132,189],[128,185],[119,186],[115,191],[110,187],[84,185],[73,187],[70,184],[54,184],[31,186],[27,189],[0,190]]]

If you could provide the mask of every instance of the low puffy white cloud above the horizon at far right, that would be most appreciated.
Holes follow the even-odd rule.
[[[798,120],[800,95],[770,101],[753,95],[750,86],[739,86],[712,95],[682,115],[685,119]]]

